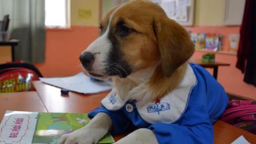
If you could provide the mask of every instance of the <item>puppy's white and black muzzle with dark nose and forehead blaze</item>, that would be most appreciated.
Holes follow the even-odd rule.
[[[132,71],[129,63],[124,60],[123,47],[120,45],[121,40],[118,39],[121,35],[116,32],[123,27],[119,28],[120,22],[115,24],[116,27],[112,27],[114,24],[112,24],[112,19],[117,10],[109,16],[108,24],[104,26],[104,31],[101,35],[82,53],[84,60],[80,60],[82,60],[83,66],[92,77],[101,79],[110,77],[125,78]]]

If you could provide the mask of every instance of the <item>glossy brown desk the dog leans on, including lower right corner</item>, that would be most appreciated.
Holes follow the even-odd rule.
[[[57,87],[44,84],[41,81],[33,83],[49,112],[90,112],[100,106],[101,99],[108,94],[108,92],[102,92],[101,94],[84,95],[69,92],[68,95],[61,95],[60,89]],[[213,129],[216,144],[232,143],[240,135],[244,135],[249,142],[256,143],[256,135],[221,121],[216,122]],[[119,140],[124,135],[126,134],[115,135],[114,139]]]

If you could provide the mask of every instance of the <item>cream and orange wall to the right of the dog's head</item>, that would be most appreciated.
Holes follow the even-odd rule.
[[[222,63],[229,63],[230,66],[219,67],[218,81],[227,92],[244,97],[256,99],[256,88],[251,84],[244,83],[244,74],[236,69],[236,55],[226,53],[228,51],[229,34],[240,33],[240,26],[222,26],[224,18],[224,1],[222,0],[196,0],[194,12],[194,26],[186,27],[193,33],[219,33],[224,35],[222,50],[224,53],[215,53],[215,60]],[[194,58],[201,59],[202,55],[208,52],[196,51]],[[212,69],[207,69],[213,72]]]

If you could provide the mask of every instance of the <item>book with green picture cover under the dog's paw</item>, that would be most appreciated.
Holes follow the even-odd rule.
[[[0,124],[0,144],[55,144],[62,135],[76,131],[88,122],[87,114],[6,111]],[[113,142],[110,134],[99,141]]]

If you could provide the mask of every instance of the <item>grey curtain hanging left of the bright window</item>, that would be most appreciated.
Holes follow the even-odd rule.
[[[15,59],[44,62],[44,0],[0,0],[2,15],[10,15],[11,38],[20,40]],[[1,15],[0,15],[1,16]]]

